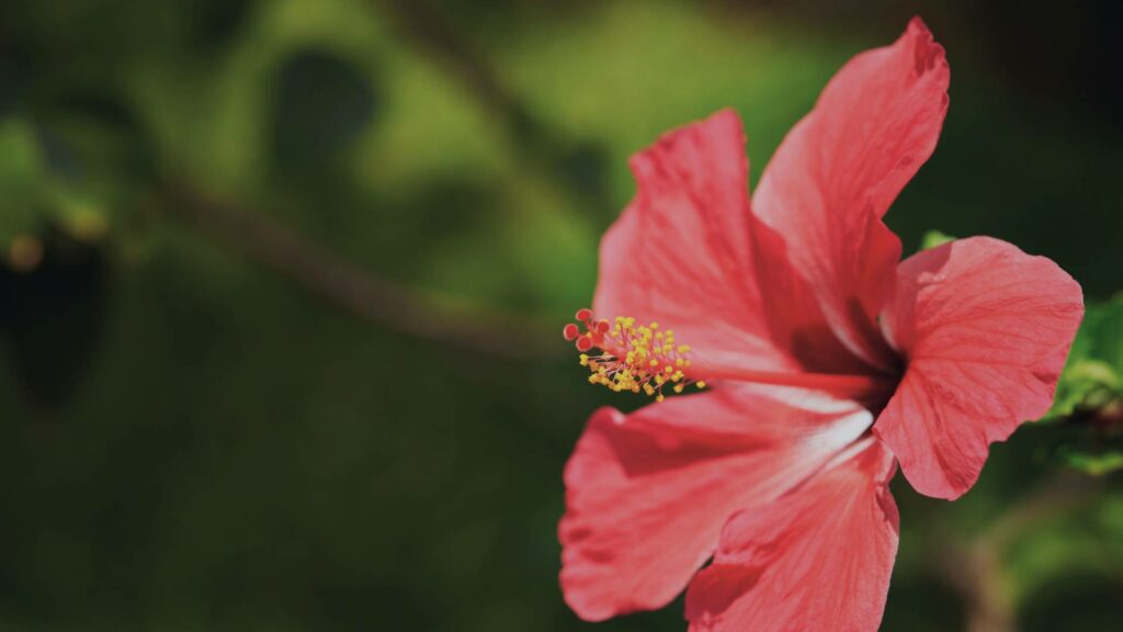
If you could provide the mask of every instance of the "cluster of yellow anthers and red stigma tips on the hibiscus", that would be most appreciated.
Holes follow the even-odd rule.
[[[636,319],[619,316],[614,323],[593,318],[591,309],[579,309],[577,322],[569,323],[563,335],[581,352],[581,365],[590,371],[590,383],[615,392],[645,392],[663,401],[663,389],[683,392],[687,386],[705,388],[702,380],[691,379],[684,370],[691,367],[691,347],[675,344],[675,332],[659,329],[658,323],[636,325]],[[601,353],[590,354],[593,350]]]

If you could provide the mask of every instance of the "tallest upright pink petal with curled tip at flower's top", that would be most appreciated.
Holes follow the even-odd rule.
[[[752,198],[774,322],[812,306],[851,353],[889,365],[874,317],[892,294],[901,242],[880,218],[935,147],[948,79],[943,48],[913,19],[892,46],[847,63],[788,133]],[[807,336],[806,326],[788,331]]]

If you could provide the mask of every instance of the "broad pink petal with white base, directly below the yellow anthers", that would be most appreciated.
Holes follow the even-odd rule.
[[[566,602],[590,621],[666,605],[729,516],[798,485],[870,422],[852,403],[782,387],[600,409],[565,471]]]

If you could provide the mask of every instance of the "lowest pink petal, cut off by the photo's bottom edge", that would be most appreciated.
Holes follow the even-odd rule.
[[[897,551],[893,457],[873,437],[803,487],[734,516],[691,583],[693,632],[875,632]]]

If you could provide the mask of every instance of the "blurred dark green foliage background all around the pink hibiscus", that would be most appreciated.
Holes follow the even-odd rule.
[[[906,251],[1123,287],[1117,2],[483,4],[3,2],[0,630],[684,630],[562,601],[562,468],[640,403],[562,325],[632,152],[732,106],[756,180],[916,13],[952,84]],[[898,477],[883,630],[1120,629],[1123,486],[1054,458],[1081,428],[955,504]]]

